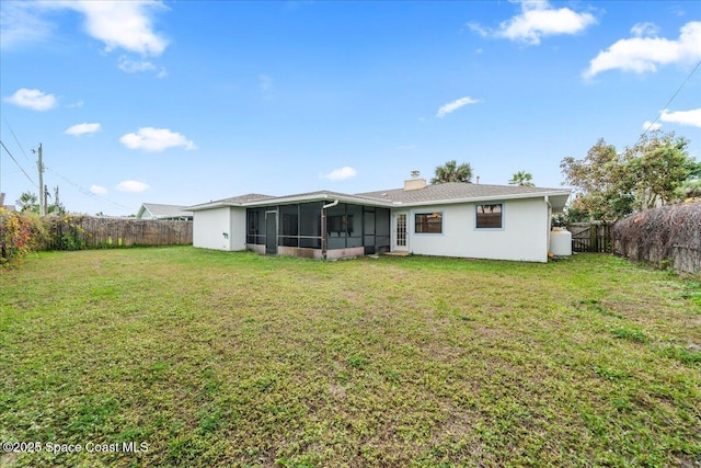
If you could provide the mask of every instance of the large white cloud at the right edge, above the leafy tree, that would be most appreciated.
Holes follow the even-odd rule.
[[[637,26],[637,27],[636,27]],[[633,26],[633,34],[650,33],[650,27]],[[644,73],[657,71],[657,66],[693,64],[701,59],[701,21],[692,21],[679,30],[678,39],[635,36],[620,39],[589,61],[583,76],[593,78],[607,70]]]

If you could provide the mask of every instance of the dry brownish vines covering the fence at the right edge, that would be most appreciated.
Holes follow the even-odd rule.
[[[646,209],[613,226],[613,251],[701,276],[701,202]]]

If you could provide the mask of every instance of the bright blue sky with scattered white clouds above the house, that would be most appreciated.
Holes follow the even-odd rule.
[[[701,159],[694,1],[3,0],[0,12],[0,138],[16,160],[0,149],[5,203],[38,192],[39,142],[49,192],[108,215],[392,189],[451,159],[481,183],[525,170],[559,187],[564,157],[599,138],[622,149],[651,123]]]

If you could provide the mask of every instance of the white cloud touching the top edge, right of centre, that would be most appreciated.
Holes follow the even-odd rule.
[[[478,23],[469,23],[468,26],[483,37],[538,45],[542,37],[577,34],[597,22],[591,13],[577,13],[568,8],[554,9],[548,1],[520,1],[520,14],[499,23],[497,30]]]

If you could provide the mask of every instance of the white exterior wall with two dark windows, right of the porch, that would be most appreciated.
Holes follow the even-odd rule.
[[[476,229],[475,205],[435,205],[409,213],[409,251],[422,255],[474,259],[548,261],[550,218],[544,199],[490,202],[503,203],[503,229]],[[443,233],[416,233],[414,215],[443,213]]]

